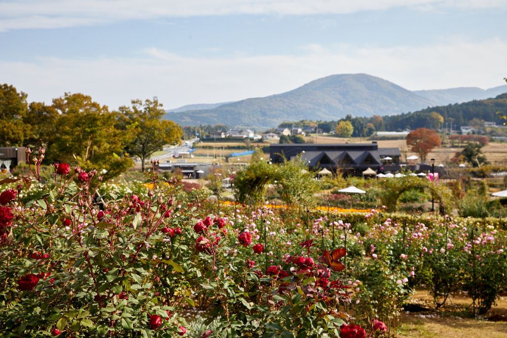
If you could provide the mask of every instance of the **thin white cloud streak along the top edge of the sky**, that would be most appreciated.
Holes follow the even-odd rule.
[[[198,15],[346,14],[392,7],[428,10],[505,6],[504,0],[8,0],[0,2],[0,31]]]

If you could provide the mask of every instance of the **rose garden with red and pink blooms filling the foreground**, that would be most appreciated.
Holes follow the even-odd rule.
[[[317,207],[295,191],[317,184],[301,163],[284,178],[252,160],[221,202],[156,162],[113,187],[44,157],[27,149],[30,175],[1,181],[2,336],[394,336],[416,289],[434,309],[466,292],[463,315],[481,316],[507,287],[505,219],[395,212],[389,189],[433,189],[418,177],[384,182],[388,206]],[[281,207],[258,203],[273,178]]]

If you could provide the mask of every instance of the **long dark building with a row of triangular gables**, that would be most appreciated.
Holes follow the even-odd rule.
[[[349,175],[360,176],[371,168],[376,172],[399,171],[400,149],[379,148],[377,142],[345,144],[271,144],[270,158],[273,163],[294,159],[301,154],[311,169],[340,170]]]

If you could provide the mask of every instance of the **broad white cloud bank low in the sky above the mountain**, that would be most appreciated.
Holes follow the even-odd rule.
[[[507,42],[452,41],[437,46],[307,48],[303,56],[262,55],[187,58],[156,48],[138,58],[37,62],[0,61],[2,82],[50,102],[82,92],[112,108],[133,98],[158,96],[167,108],[260,97],[294,89],[337,73],[369,73],[410,90],[504,84]]]

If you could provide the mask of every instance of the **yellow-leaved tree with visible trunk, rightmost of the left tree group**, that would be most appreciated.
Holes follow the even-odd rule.
[[[127,124],[134,128],[135,138],[126,149],[130,155],[141,159],[141,171],[144,161],[165,144],[179,144],[183,131],[172,121],[162,120],[165,110],[158,101],[132,100],[132,106],[122,106],[120,111],[127,118]]]

